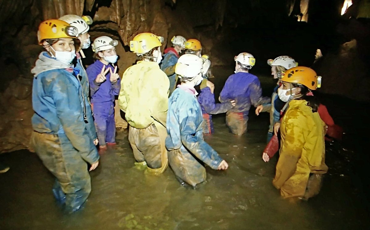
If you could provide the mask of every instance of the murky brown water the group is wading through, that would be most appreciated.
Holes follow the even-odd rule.
[[[224,69],[214,74],[218,97],[227,75]],[[261,78],[266,91],[273,86],[269,79]],[[171,169],[146,175],[134,167],[128,133],[120,130],[117,147],[91,172],[90,197],[72,215],[55,203],[54,179],[34,153],[1,155],[11,169],[0,174],[0,229],[367,229],[366,182],[357,170],[362,166],[355,160],[361,154],[356,146],[328,145],[330,171],[321,193],[291,203],[271,183],[277,156],[269,163],[261,159],[268,114],[251,115],[248,133],[240,137],[228,132],[225,115],[215,116],[214,123],[215,134],[205,139],[229,163],[225,172],[207,168],[207,182],[196,190],[180,186]]]

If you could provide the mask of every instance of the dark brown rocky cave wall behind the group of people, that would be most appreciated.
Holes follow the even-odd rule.
[[[323,76],[320,91],[369,101],[369,21],[356,18],[362,8],[355,1],[351,16],[341,17],[342,5],[343,0],[0,0],[0,152],[29,148],[30,70],[42,50],[36,36],[42,20],[91,16],[91,40],[109,35],[120,41],[120,74],[135,62],[129,40],[151,31],[165,37],[162,49],[174,35],[199,39],[212,65],[231,71],[240,52],[253,54],[253,71],[262,74],[269,74],[267,59],[290,55]],[[303,8],[307,23],[297,20]],[[313,65],[317,48],[323,58]],[[91,64],[92,51],[84,53],[84,64]]]

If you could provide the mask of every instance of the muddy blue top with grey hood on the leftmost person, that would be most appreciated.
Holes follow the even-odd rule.
[[[80,81],[64,67],[63,62],[51,58],[46,52],[42,52],[36,61],[31,71],[35,74],[33,129],[39,133],[65,133],[86,161],[95,159],[97,150],[93,141],[96,132],[92,134],[89,131],[90,124],[84,119],[83,105],[88,103],[87,98],[84,98]]]

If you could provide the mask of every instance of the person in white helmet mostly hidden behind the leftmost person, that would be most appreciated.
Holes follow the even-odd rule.
[[[94,119],[92,118],[92,109],[90,104],[90,85],[87,77],[86,70],[84,68],[84,65],[82,63],[82,58],[85,58],[85,54],[82,51],[82,49],[87,49],[90,47],[90,34],[88,34],[88,31],[90,29],[90,24],[92,24],[92,19],[90,16],[78,16],[74,14],[67,14],[59,18],[59,20],[65,21],[70,26],[74,26],[77,28],[77,38],[80,40],[80,46],[76,48],[76,56],[77,56],[77,64],[75,66],[76,69],[80,70],[80,82],[82,89],[84,91],[84,97],[88,98],[89,103],[85,105],[86,110],[90,111],[86,113],[87,119],[88,119],[88,130],[93,134],[94,137],[94,143],[95,145],[98,144],[98,137],[96,136],[96,130],[94,125]],[[81,54],[81,55],[80,55]],[[82,56],[82,58],[81,58]]]

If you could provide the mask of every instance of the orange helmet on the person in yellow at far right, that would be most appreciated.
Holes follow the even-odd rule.
[[[285,71],[281,81],[305,85],[311,90],[321,87],[321,77],[308,67],[297,66]]]

